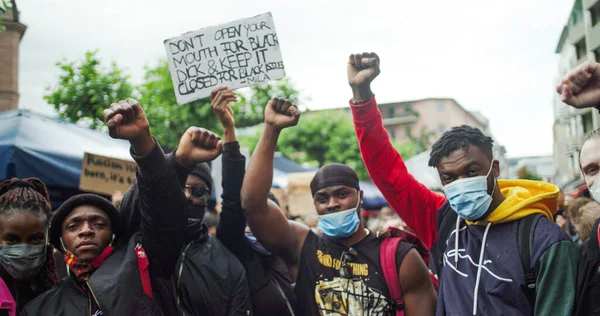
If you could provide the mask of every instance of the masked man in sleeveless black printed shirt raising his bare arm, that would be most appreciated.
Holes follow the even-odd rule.
[[[394,289],[388,288],[380,263],[383,239],[364,227],[360,217],[363,192],[350,167],[323,166],[310,183],[324,236],[289,221],[268,200],[279,134],[295,126],[300,113],[291,102],[272,99],[264,117],[264,130],[244,177],[242,208],[258,241],[287,264],[296,282],[297,314],[395,315],[402,311],[433,315],[435,289],[427,265],[408,242],[400,242],[390,254],[398,269],[386,276],[401,286],[404,301],[395,304],[390,294]]]

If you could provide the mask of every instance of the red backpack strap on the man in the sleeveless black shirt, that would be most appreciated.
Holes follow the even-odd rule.
[[[402,288],[398,279],[398,267],[396,267],[396,250],[401,240],[401,237],[383,239],[379,252],[381,270],[383,270],[385,283],[395,304],[396,316],[404,315],[404,300],[402,300]]]

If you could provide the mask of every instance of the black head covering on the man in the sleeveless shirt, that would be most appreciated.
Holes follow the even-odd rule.
[[[358,176],[352,168],[339,163],[332,163],[321,167],[317,171],[315,177],[310,182],[310,191],[315,196],[317,191],[337,185],[344,185],[360,190]]]

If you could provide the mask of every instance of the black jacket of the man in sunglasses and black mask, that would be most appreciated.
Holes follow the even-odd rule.
[[[174,155],[167,158],[179,178],[180,191],[189,169],[177,164]],[[137,192],[131,192],[130,203],[121,204],[121,218],[129,233],[140,223]],[[187,207],[187,203],[185,204]],[[171,281],[177,312],[169,315],[249,315],[252,306],[244,267],[205,228],[197,236],[177,248],[179,260]]]

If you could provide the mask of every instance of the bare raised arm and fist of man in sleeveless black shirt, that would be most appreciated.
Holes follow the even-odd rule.
[[[288,265],[298,263],[309,229],[288,221],[268,196],[273,183],[273,156],[279,133],[298,124],[299,119],[300,112],[290,101],[269,101],[265,108],[265,127],[242,186],[242,208],[252,232],[265,248],[281,256]]]

